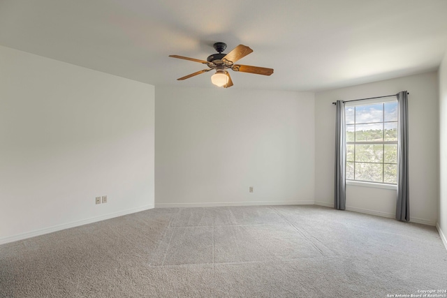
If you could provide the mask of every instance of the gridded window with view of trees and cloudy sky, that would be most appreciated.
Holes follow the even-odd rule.
[[[397,100],[346,103],[346,180],[397,184]]]

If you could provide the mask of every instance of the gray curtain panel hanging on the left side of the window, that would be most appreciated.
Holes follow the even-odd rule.
[[[344,102],[337,100],[335,115],[335,192],[334,208],[346,209],[346,132],[344,128]]]

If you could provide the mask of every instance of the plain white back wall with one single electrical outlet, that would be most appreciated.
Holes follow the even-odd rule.
[[[156,206],[314,203],[314,94],[156,87],[155,106]]]

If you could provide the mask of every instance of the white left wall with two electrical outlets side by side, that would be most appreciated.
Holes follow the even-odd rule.
[[[154,87],[0,47],[0,244],[153,206]]]

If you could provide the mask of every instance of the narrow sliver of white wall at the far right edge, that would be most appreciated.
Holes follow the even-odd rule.
[[[439,206],[438,227],[447,248],[447,52],[439,66]]]

